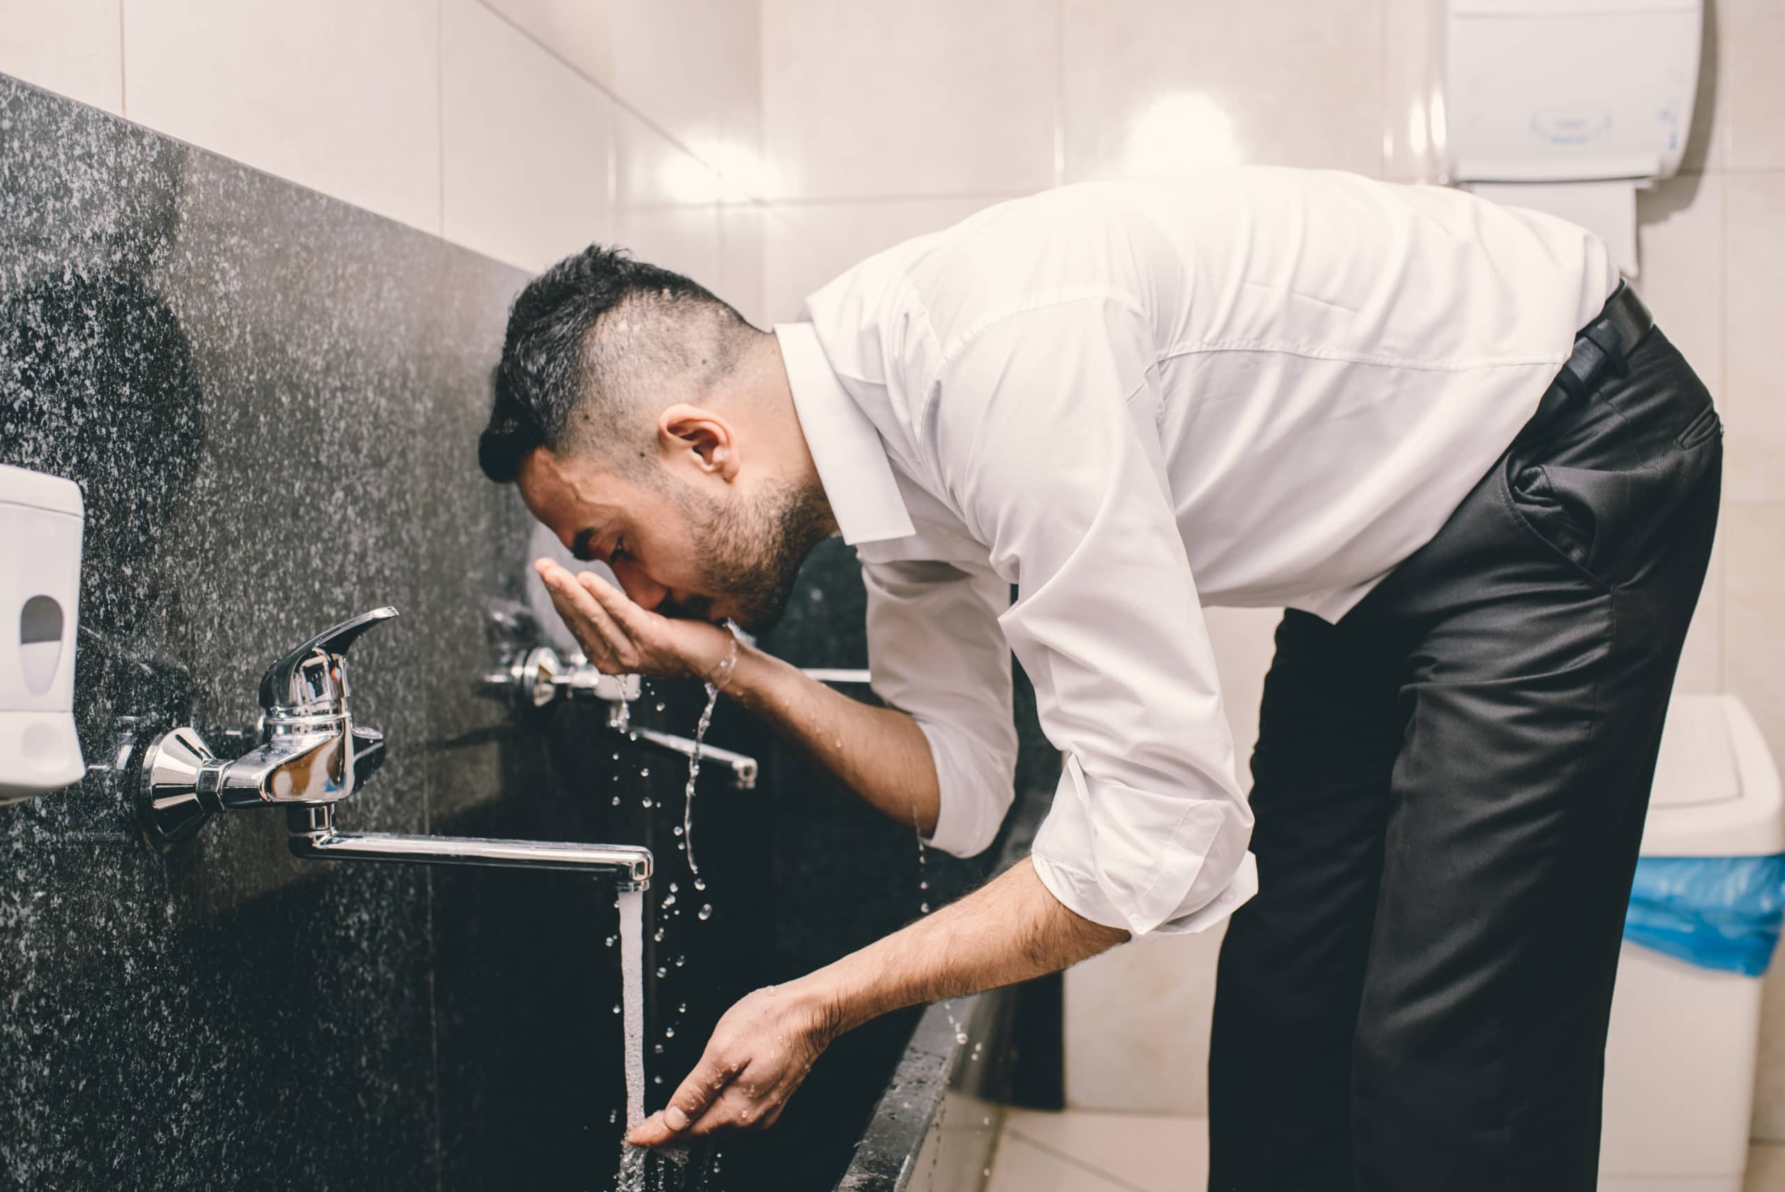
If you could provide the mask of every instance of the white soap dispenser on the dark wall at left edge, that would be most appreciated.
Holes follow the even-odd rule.
[[[80,485],[0,464],[0,803],[79,782]]]

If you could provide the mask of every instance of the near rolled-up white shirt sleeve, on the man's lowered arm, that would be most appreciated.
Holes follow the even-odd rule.
[[[998,623],[1066,753],[1035,871],[1133,935],[1203,930],[1257,890],[1151,362],[1137,312],[1062,300],[946,350],[928,418],[941,484],[1017,584]]]

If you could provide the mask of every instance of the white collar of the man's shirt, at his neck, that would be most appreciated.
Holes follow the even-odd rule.
[[[810,323],[776,323],[775,335],[800,430],[843,541],[855,546],[916,534],[880,432],[830,368],[818,332]]]

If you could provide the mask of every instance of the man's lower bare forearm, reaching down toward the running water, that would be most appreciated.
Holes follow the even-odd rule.
[[[832,1033],[903,1006],[1059,973],[1128,939],[1060,905],[1025,858],[966,898],[793,983]],[[789,989],[789,987],[782,987]]]

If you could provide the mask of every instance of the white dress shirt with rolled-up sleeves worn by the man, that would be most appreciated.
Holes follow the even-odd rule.
[[[873,689],[935,758],[932,842],[973,855],[1010,807],[1014,650],[1066,755],[1048,890],[1135,935],[1232,914],[1251,812],[1201,605],[1337,621],[1615,286],[1553,216],[1237,168],[1001,203],[807,298],[775,330]]]

